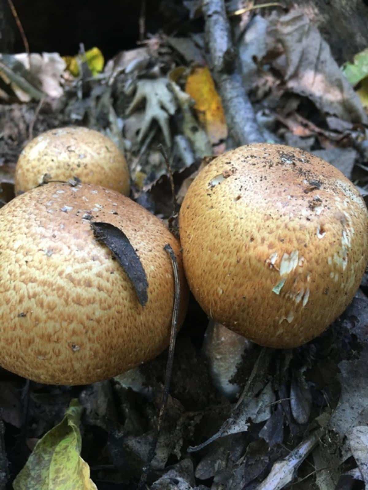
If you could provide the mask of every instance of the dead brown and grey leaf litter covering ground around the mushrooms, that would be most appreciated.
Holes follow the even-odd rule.
[[[237,3],[232,2],[231,11],[241,10]],[[188,18],[203,14],[200,2],[184,4]],[[285,14],[269,7],[229,19],[236,34],[238,74],[251,102],[246,107],[254,110],[261,137],[314,152],[366,193],[365,51],[341,69],[313,21],[297,9]],[[82,52],[78,56],[84,59]],[[225,120],[216,104],[198,105],[200,94],[218,100],[224,82],[211,70],[203,31],[153,35],[141,47],[108,60],[98,75],[82,66],[74,76],[57,53],[31,53],[30,59],[29,66],[24,53],[1,57],[1,77],[7,84],[6,92],[0,92],[3,203],[13,198],[22,147],[53,127],[83,124],[112,138],[129,162],[132,196],[165,219],[172,215],[172,195],[158,145],[167,148],[180,203],[198,169],[239,144],[242,129],[234,132],[229,105],[224,104]],[[201,71],[207,79],[193,83],[190,77]],[[231,89],[233,81],[226,79]],[[190,83],[194,88],[187,90]],[[124,267],[134,269],[132,282],[144,304],[148,285],[139,259],[134,251],[121,251],[129,247],[126,237],[116,237],[101,225],[100,237],[112,241],[110,249],[123,257]],[[212,384],[201,350],[207,318],[192,300],[177,340],[148,488],[270,490],[302,487],[303,478],[307,488],[320,490],[354,488],[358,481],[368,485],[367,293],[366,280],[342,317],[315,341],[292,351],[256,346],[255,357],[245,354],[232,380],[242,388],[236,403]],[[40,475],[53,464],[57,470],[63,459],[51,462],[43,448],[51,447],[51,429],[60,436],[53,439],[56,452],[59,446],[65,456],[71,451],[77,469],[66,476],[79,475],[85,487],[78,488],[135,488],[157,430],[166,362],[164,352],[130,376],[88,387],[31,383],[29,403],[19,397],[19,378],[8,374],[0,395],[6,435],[0,441],[0,461],[6,463],[7,456],[10,474],[4,466],[0,482],[14,479],[24,465],[13,450],[15,437],[27,454],[39,441],[17,480],[26,474],[28,487],[19,488],[32,488],[29,482],[35,478],[39,485]],[[68,408],[75,396],[80,407],[73,402]],[[79,418],[82,457],[94,483],[80,457]]]

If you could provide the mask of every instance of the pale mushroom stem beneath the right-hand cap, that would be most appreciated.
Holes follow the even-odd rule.
[[[233,400],[240,392],[240,386],[232,379],[242,362],[244,352],[251,349],[253,343],[245,337],[210,320],[203,343],[203,353],[210,369],[210,376],[216,389]]]

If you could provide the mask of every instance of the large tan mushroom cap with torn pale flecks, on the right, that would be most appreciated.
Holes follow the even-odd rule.
[[[367,265],[358,190],[296,148],[248,145],[215,158],[189,187],[179,223],[199,304],[265,346],[318,336],[352,300]]]

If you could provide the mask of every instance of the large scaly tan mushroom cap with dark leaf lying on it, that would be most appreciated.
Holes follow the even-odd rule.
[[[92,218],[91,218],[92,217]],[[125,271],[94,238],[92,221],[117,226],[148,280],[142,307]],[[0,365],[52,384],[79,385],[117,375],[169,343],[174,249],[163,223],[128,197],[90,184],[50,183],[0,210]]]

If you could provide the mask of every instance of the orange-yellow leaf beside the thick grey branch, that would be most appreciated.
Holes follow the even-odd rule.
[[[205,126],[211,143],[225,139],[228,133],[225,114],[210,70],[195,68],[186,80],[185,92],[195,100],[198,119]]]

